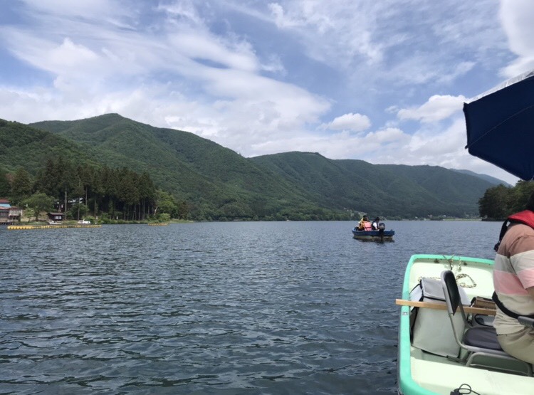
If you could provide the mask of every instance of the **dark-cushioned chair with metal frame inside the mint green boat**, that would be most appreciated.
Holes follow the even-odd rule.
[[[501,348],[497,333],[493,327],[473,327],[467,320],[464,306],[461,303],[456,278],[451,270],[441,273],[441,285],[444,290],[447,312],[451,320],[456,343],[464,350],[464,357],[455,358],[468,367],[483,367],[507,373],[520,373],[532,376],[532,365],[528,362],[512,357]],[[454,315],[460,310],[465,328],[459,333],[454,325]],[[478,360],[478,362],[477,362]],[[480,362],[482,361],[482,362]]]

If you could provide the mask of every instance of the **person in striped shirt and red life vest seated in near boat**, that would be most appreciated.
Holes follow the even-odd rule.
[[[534,364],[534,330],[517,320],[518,315],[534,317],[534,193],[525,211],[503,223],[495,249],[493,300],[498,308],[493,326],[498,342],[511,356]]]

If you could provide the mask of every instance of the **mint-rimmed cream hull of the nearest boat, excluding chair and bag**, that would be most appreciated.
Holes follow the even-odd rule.
[[[440,278],[441,272],[452,270],[456,281],[472,297],[491,297],[493,293],[493,261],[482,258],[416,255],[410,259],[404,275],[402,299],[409,300],[410,291],[422,277]],[[399,321],[398,390],[404,395],[449,395],[462,384],[484,395],[534,394],[534,378],[520,374],[496,372],[481,367],[465,367],[446,357],[414,347],[410,339],[410,314],[413,307],[402,306]],[[451,325],[443,311],[443,325]],[[436,337],[436,342],[439,342]],[[506,362],[504,362],[506,363]],[[459,392],[467,394],[467,392]]]

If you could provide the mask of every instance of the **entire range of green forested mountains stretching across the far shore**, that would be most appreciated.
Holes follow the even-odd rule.
[[[4,125],[2,127],[1,125]],[[31,125],[0,120],[0,169],[36,174],[50,155],[125,167],[186,201],[192,219],[476,216],[495,183],[441,167],[375,165],[287,152],[244,158],[189,132],[117,114]]]

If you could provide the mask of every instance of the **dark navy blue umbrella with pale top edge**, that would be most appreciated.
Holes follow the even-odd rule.
[[[534,70],[464,103],[469,154],[534,179]]]

